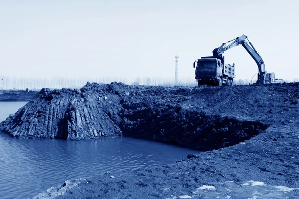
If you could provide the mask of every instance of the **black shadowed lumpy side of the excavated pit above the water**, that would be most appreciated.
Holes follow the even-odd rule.
[[[124,136],[166,142],[208,151],[233,146],[266,130],[268,124],[234,117],[205,115],[181,107],[147,108],[126,114],[120,124]]]

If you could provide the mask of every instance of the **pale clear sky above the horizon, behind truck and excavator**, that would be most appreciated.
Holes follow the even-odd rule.
[[[276,78],[299,78],[297,0],[0,0],[0,76],[194,77],[193,61],[245,34]],[[258,67],[224,53],[237,79]]]

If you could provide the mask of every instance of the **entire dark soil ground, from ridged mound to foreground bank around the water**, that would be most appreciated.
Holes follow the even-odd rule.
[[[196,148],[175,164],[66,181],[37,198],[299,198],[299,84],[42,90],[0,125],[18,138],[131,136]]]

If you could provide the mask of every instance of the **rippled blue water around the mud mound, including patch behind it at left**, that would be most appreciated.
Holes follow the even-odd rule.
[[[0,102],[0,121],[26,102]],[[191,149],[134,138],[14,139],[0,132],[0,199],[29,198],[64,180],[173,163]]]

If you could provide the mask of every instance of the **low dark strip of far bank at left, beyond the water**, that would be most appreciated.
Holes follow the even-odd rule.
[[[0,91],[0,101],[30,101],[36,94],[36,91],[25,90]]]

